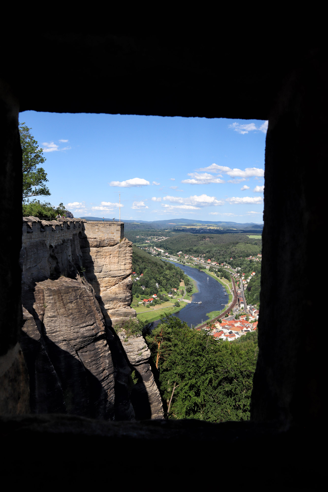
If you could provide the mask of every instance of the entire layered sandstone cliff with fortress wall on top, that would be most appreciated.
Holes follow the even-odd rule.
[[[32,412],[107,420],[163,417],[144,339],[122,344],[111,329],[135,316],[132,248],[123,227],[24,218],[20,343]]]

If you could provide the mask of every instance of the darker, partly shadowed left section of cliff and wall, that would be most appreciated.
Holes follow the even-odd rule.
[[[83,221],[23,222],[20,340],[34,413],[114,417],[114,370],[105,322],[83,275]]]

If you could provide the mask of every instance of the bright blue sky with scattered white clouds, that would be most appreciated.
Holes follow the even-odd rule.
[[[262,223],[267,122],[25,111],[53,205],[75,217]]]

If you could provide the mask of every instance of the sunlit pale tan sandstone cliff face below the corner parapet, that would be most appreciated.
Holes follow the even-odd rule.
[[[135,310],[130,307],[132,243],[123,237],[123,224],[114,222],[112,225],[110,228],[106,224],[87,222],[85,234],[80,235],[83,266],[96,292],[108,328],[125,318],[136,316]],[[125,385],[129,384],[126,363],[138,375],[138,382],[131,390],[136,418],[163,418],[162,400],[149,365],[150,350],[144,338],[129,337],[128,342],[124,342],[124,331],[120,332],[118,338],[113,334],[113,348],[111,345],[113,354],[121,353],[120,361],[116,364],[116,379]]]

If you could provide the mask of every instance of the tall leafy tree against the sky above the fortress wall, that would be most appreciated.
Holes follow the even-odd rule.
[[[45,185],[47,173],[43,167],[38,167],[45,162],[43,149],[39,148],[37,141],[34,140],[29,128],[24,123],[19,124],[19,133],[22,147],[22,167],[23,167],[23,200],[32,196],[49,196],[51,193]]]

